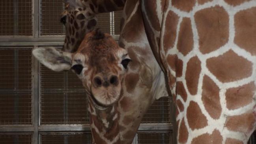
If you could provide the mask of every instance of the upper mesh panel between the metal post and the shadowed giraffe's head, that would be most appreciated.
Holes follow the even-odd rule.
[[[40,35],[65,35],[64,25],[60,22],[64,6],[62,0],[41,0]]]

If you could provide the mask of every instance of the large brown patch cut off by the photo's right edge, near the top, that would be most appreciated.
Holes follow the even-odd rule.
[[[256,7],[235,15],[235,40],[241,48],[256,55]]]

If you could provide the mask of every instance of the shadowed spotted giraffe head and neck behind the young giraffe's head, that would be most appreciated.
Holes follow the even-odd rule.
[[[122,10],[126,0],[67,0],[65,52],[76,52],[84,35],[97,25],[97,14]]]

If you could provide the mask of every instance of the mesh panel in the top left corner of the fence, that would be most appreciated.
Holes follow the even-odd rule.
[[[0,35],[32,35],[32,0],[0,0]]]

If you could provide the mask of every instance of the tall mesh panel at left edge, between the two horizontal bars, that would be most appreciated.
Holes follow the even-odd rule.
[[[32,124],[31,48],[0,48],[0,124]]]

